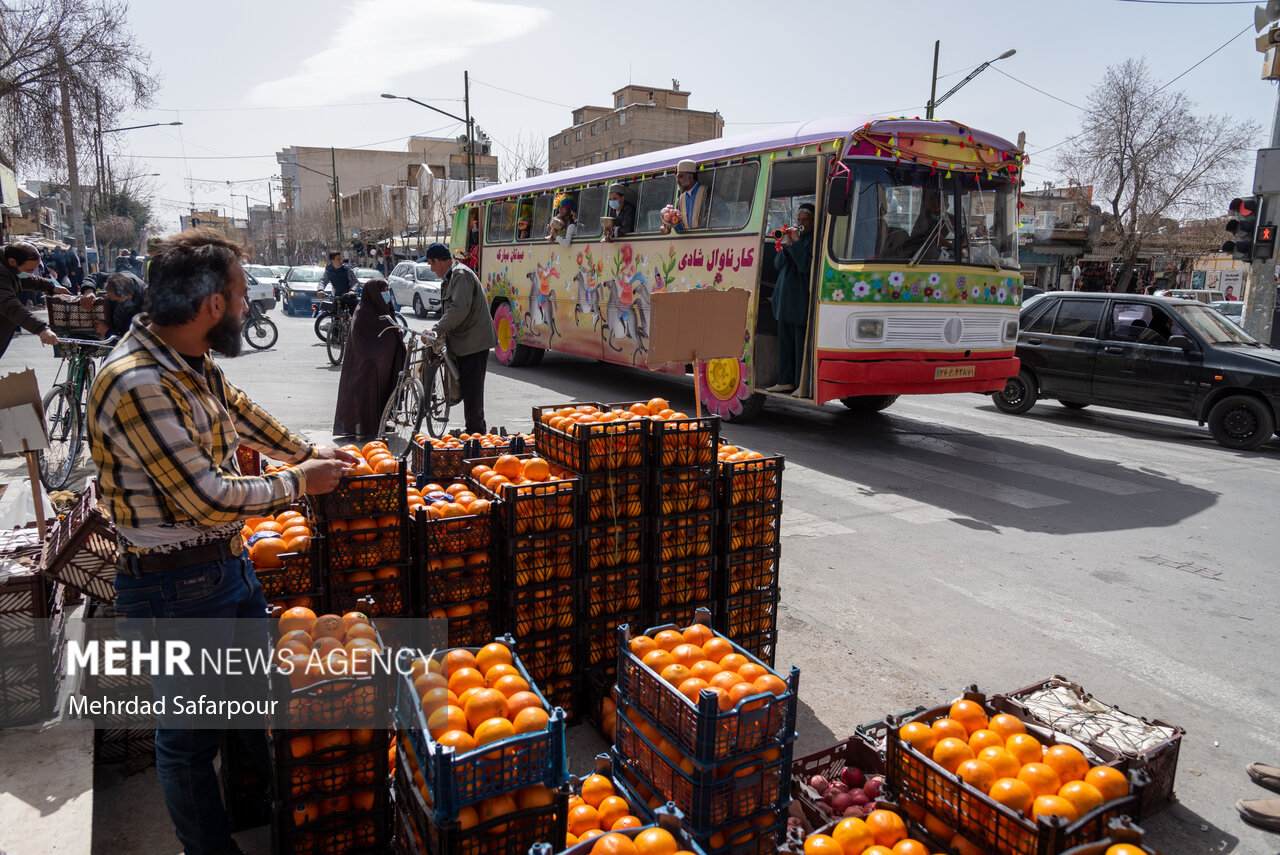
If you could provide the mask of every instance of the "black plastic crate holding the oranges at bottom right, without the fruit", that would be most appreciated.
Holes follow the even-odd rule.
[[[996,712],[987,703],[986,695],[974,689],[964,692],[964,698],[982,704],[988,715]],[[1148,776],[1140,771],[1129,773],[1129,795],[1096,808],[1074,823],[1052,817],[1033,822],[1001,805],[945,771],[897,735],[909,721],[932,724],[948,712],[950,705],[945,705],[902,717],[890,715],[886,719],[887,781],[901,799],[923,805],[975,846],[993,855],[1053,855],[1101,838],[1107,824],[1116,817],[1140,814],[1143,791],[1149,782]],[[1052,731],[1042,731],[1036,736],[1046,745],[1062,741]]]

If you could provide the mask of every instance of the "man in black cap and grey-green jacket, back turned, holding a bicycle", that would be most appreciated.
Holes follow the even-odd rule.
[[[489,349],[498,344],[498,334],[489,317],[489,301],[475,271],[457,264],[449,247],[433,243],[426,247],[426,264],[440,278],[440,320],[435,332],[444,340],[458,366],[462,407],[467,433],[485,433],[484,378],[489,366]]]

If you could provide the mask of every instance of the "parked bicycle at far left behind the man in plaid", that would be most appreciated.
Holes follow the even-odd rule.
[[[84,440],[84,413],[88,408],[88,390],[97,375],[93,360],[106,356],[115,346],[116,337],[108,339],[59,338],[64,348],[61,365],[54,378],[54,388],[45,396],[45,433],[49,445],[40,452],[40,483],[49,490],[60,490],[76,468],[81,443]],[[56,383],[67,369],[67,379]]]

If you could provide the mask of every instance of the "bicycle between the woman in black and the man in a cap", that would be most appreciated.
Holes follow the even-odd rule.
[[[383,334],[390,330],[383,330]],[[403,459],[422,429],[442,438],[449,429],[445,371],[452,371],[443,338],[428,330],[399,330],[404,337],[404,366],[383,408],[381,438],[390,453]]]

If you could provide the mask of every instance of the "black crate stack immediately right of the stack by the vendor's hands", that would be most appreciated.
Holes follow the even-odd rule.
[[[443,480],[436,486],[448,489],[462,483]],[[430,495],[424,497],[428,503]],[[448,621],[448,635],[438,646],[477,646],[498,634],[502,598],[493,527],[492,504],[481,513],[443,518],[425,507],[413,513],[415,613]]]

